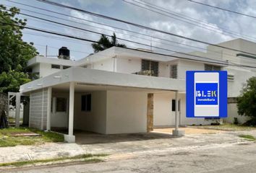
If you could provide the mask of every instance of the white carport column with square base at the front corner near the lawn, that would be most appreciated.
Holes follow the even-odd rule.
[[[65,135],[65,141],[74,143],[75,138],[73,135],[74,127],[74,82],[69,84],[69,135]]]

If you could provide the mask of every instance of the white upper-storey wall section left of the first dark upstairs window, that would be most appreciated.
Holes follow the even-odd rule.
[[[133,74],[141,71],[141,59],[116,58],[116,72]]]

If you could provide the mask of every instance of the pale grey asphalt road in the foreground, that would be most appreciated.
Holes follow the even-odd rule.
[[[256,172],[256,143],[215,143],[178,150],[137,151],[114,154],[95,164],[30,167],[10,172]]]

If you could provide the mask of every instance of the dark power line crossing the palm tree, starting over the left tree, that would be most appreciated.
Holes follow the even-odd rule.
[[[73,38],[73,39],[77,39],[77,40],[83,40],[83,41],[87,41],[87,42],[91,42],[91,43],[98,43],[97,41],[94,41],[94,40],[89,40],[89,39],[85,39],[85,38],[82,38],[82,37],[74,37],[72,35],[65,35],[65,34],[62,34],[62,33],[59,33],[59,32],[53,32],[53,31],[48,31],[48,30],[42,30],[42,29],[38,29],[38,28],[35,28],[35,27],[26,27],[26,26],[20,26],[20,25],[12,25],[12,24],[8,24],[8,23],[5,23],[5,22],[1,22],[1,24],[3,25],[11,25],[11,26],[16,26],[16,27],[22,27],[22,28],[26,28],[26,29],[29,29],[29,30],[35,30],[35,31],[38,31],[38,32],[46,32],[46,33],[49,33],[49,34],[53,34],[53,35],[60,35],[60,36],[63,36],[63,37],[70,37],[70,38]],[[150,45],[148,45],[150,46]],[[133,49],[133,48],[127,48],[127,49],[130,49],[130,50],[137,50],[137,49]],[[142,51],[142,52],[145,52],[145,53],[153,53],[153,52],[148,52],[148,51],[145,51],[145,50],[139,50],[139,51]],[[174,56],[174,55],[167,55],[167,54],[163,54],[163,53],[153,53],[155,55],[161,55],[161,56],[168,56],[168,57],[172,57],[172,58],[181,58],[181,59],[186,59],[186,60],[190,60],[190,61],[200,61],[200,62],[206,62],[206,63],[216,63],[216,64],[221,64],[221,65],[230,65],[229,63],[227,62],[218,62],[216,60],[213,60],[213,59],[210,59],[211,61],[203,61],[203,60],[197,60],[197,59],[193,59],[193,58],[186,58],[186,57],[181,57],[181,56]],[[191,56],[191,55],[189,55]],[[216,61],[216,62],[213,62],[213,61]],[[234,65],[230,65],[230,66],[242,66],[242,67],[247,67],[247,68],[256,68],[255,66],[246,66],[246,65],[241,65],[241,64],[234,64]]]

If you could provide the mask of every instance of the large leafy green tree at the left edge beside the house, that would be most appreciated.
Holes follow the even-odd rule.
[[[21,84],[30,81],[27,61],[38,54],[33,43],[22,40],[26,19],[16,17],[19,13],[16,7],[0,4],[0,92],[18,92]]]

